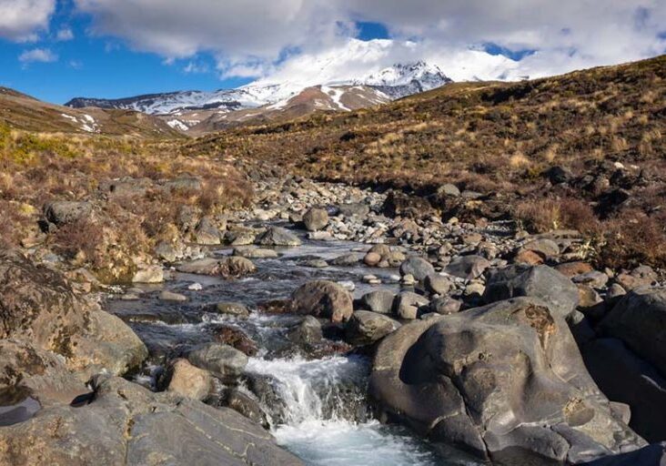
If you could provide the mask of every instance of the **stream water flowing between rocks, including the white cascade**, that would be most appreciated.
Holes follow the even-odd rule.
[[[278,443],[311,465],[370,466],[448,465],[426,441],[398,426],[383,425],[368,410],[366,385],[369,360],[359,356],[327,356],[307,360],[290,350],[286,339],[297,316],[267,316],[252,312],[249,319],[209,314],[207,304],[236,301],[256,309],[267,299],[287,298],[311,279],[348,280],[357,285],[355,297],[369,289],[363,275],[387,279],[395,270],[355,267],[307,268],[307,258],[336,258],[363,245],[351,242],[304,241],[299,248],[280,249],[277,259],[254,259],[258,273],[249,279],[217,278],[178,274],[166,289],[187,295],[186,303],[160,301],[161,288],[146,287],[137,300],[112,300],[107,309],[126,319],[146,342],[153,361],[177,348],[213,340],[215,329],[227,325],[243,329],[257,342],[257,357],[247,365],[249,376],[269,380],[277,402],[264,402],[271,431]],[[228,250],[216,251],[228,254]],[[199,291],[187,287],[197,282]],[[388,287],[390,285],[383,285]],[[393,285],[396,287],[397,285]],[[146,368],[144,380],[154,373]],[[458,464],[458,463],[457,463]]]

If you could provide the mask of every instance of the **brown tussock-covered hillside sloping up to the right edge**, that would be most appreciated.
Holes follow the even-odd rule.
[[[660,56],[520,83],[459,83],[378,109],[202,137],[184,150],[400,187],[449,215],[580,228],[607,262],[663,264],[665,79]],[[570,170],[569,182],[553,187],[553,167]],[[447,182],[486,198],[439,198]]]

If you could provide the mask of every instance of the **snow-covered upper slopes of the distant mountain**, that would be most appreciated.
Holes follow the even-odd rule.
[[[317,79],[323,81],[317,82]],[[327,73],[326,64],[324,64],[321,66],[320,73],[303,79],[290,78],[282,82],[263,79],[236,89],[221,89],[213,92],[181,91],[120,99],[77,97],[67,102],[66,106],[122,108],[150,115],[177,116],[196,110],[217,109],[222,112],[232,112],[280,105],[312,86],[367,86],[390,99],[395,99],[443,86],[449,82],[451,82],[449,77],[445,76],[438,66],[420,61],[389,66],[364,76],[335,76],[335,74]]]

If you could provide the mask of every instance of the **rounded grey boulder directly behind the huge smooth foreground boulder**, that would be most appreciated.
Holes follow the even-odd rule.
[[[485,302],[520,296],[542,299],[563,318],[569,316],[579,302],[576,285],[548,266],[514,265],[493,270],[489,274],[483,293]]]

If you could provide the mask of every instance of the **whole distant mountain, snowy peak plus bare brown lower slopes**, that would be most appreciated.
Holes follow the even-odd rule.
[[[325,79],[318,83],[264,80],[214,92],[178,91],[119,99],[76,97],[66,106],[135,110],[162,116],[169,126],[181,131],[197,126],[208,131],[241,122],[299,117],[317,110],[356,110],[452,82],[438,66],[422,61],[396,64],[366,76]],[[212,120],[200,126],[209,118]]]

